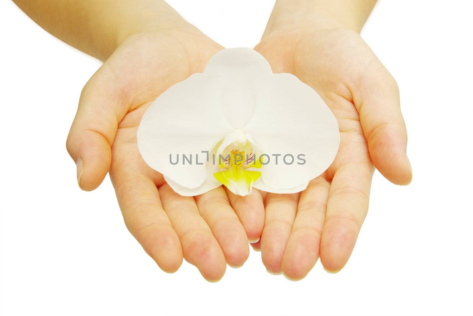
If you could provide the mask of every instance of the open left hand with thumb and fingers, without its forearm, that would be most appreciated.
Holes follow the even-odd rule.
[[[95,189],[110,170],[126,226],[161,269],[175,272],[184,256],[208,281],[223,276],[226,262],[243,265],[248,238],[261,235],[262,202],[229,201],[222,187],[177,195],[142,160],[136,132],[159,94],[201,72],[221,49],[193,26],[131,35],[84,87],[67,141],[82,189]]]

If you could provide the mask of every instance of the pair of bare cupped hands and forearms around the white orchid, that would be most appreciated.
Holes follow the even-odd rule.
[[[341,149],[329,170],[301,194],[254,190],[245,197],[222,187],[178,196],[146,165],[136,145],[149,105],[169,86],[201,72],[220,45],[160,0],[15,2],[51,34],[104,61],[82,91],[67,149],[77,163],[80,188],[95,189],[110,171],[128,229],[166,272],[176,271],[184,257],[205,279],[217,281],[226,262],[245,262],[247,240],[260,236],[254,247],[261,243],[263,263],[272,273],[302,278],[319,248],[322,264],[337,271],[366,215],[373,163],[395,183],[412,177],[397,86],[359,30],[353,31],[368,17],[368,1],[334,7],[327,5],[331,1],[276,3],[256,49],[274,72],[292,72],[321,94],[339,121]],[[340,7],[348,8],[343,20]]]

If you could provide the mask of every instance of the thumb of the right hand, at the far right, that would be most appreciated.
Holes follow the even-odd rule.
[[[412,169],[406,154],[407,131],[399,89],[379,60],[360,80],[358,95],[355,105],[373,164],[394,184],[409,184]]]

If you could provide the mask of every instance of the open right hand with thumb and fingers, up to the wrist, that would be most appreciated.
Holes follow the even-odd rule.
[[[261,244],[254,247],[269,272],[289,279],[303,278],[319,256],[327,271],[338,272],[367,214],[374,166],[395,184],[412,179],[398,87],[349,29],[286,26],[266,32],[255,49],[273,72],[292,73],[321,95],[341,142],[332,165],[305,191],[267,195]]]

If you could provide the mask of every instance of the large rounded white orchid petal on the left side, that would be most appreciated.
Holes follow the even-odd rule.
[[[161,94],[138,128],[144,161],[180,186],[200,187],[207,177],[207,153],[202,151],[210,152],[233,131],[221,110],[224,89],[218,76],[194,74]],[[192,163],[183,154],[192,154]],[[170,163],[177,155],[178,163]]]

